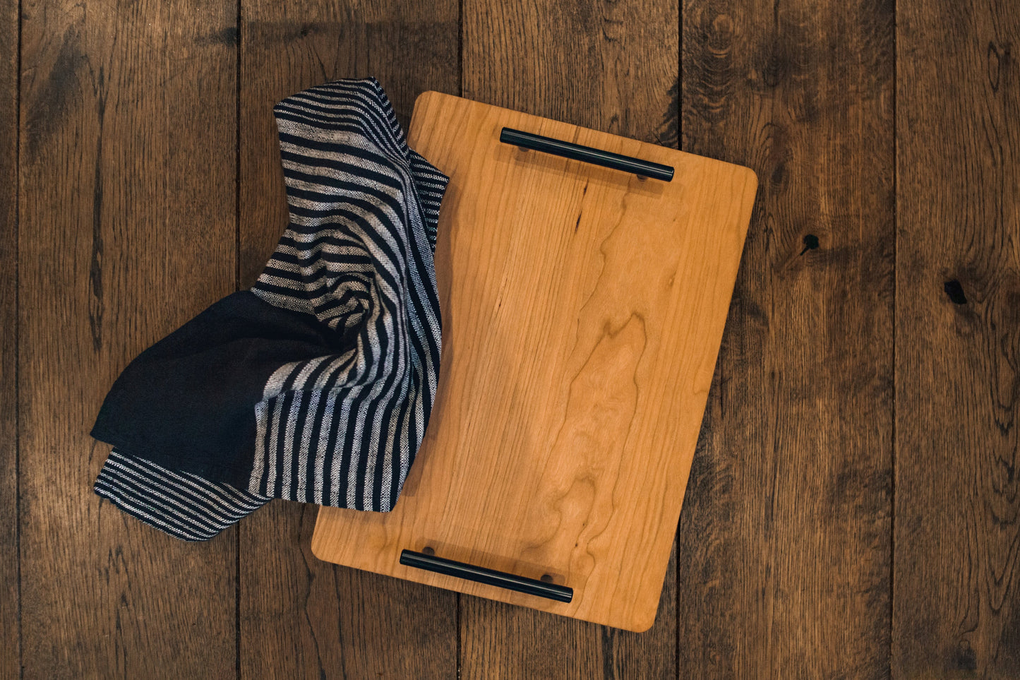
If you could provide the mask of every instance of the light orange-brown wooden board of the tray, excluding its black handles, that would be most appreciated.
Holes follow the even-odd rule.
[[[671,182],[500,142],[504,127],[670,165]],[[651,627],[757,178],[436,92],[409,141],[450,176],[440,387],[392,513],[322,507],[321,560]],[[435,552],[569,602],[400,564]]]

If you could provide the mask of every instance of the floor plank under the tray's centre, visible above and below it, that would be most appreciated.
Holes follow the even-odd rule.
[[[675,2],[651,0],[465,0],[463,96],[658,141],[675,110],[678,15]],[[640,635],[465,596],[462,677],[542,677],[542,668],[553,669],[548,677],[671,676],[676,621],[668,593],[667,586],[656,624]]]

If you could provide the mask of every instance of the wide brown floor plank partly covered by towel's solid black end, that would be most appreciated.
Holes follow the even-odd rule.
[[[24,678],[235,675],[236,536],[93,494],[118,372],[235,287],[236,10],[22,3]]]

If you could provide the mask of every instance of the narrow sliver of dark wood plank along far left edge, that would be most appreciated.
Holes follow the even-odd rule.
[[[0,678],[20,673],[17,582],[17,3],[0,7]]]

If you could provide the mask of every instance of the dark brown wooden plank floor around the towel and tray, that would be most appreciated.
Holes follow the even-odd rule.
[[[285,226],[271,104],[366,75],[758,173],[650,632],[92,494],[117,373]],[[0,231],[0,677],[1020,678],[1015,0],[10,0]]]

